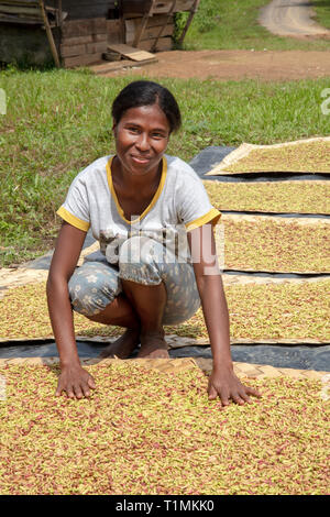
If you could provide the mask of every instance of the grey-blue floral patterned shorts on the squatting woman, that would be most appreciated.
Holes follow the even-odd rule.
[[[200,307],[194,267],[166,254],[164,246],[145,237],[124,241],[118,254],[118,264],[85,258],[68,283],[74,310],[85,316],[101,312],[122,293],[121,279],[143,285],[164,282],[167,301],[163,324],[178,324],[191,318]]]

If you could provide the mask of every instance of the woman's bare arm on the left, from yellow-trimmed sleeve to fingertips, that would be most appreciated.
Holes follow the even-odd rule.
[[[57,241],[47,279],[47,302],[53,333],[59,353],[62,373],[56,395],[63,391],[69,397],[81,398],[95,387],[92,377],[80,366],[77,351],[68,280],[77,265],[86,232],[64,222]]]

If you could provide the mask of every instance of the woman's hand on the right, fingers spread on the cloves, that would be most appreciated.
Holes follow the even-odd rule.
[[[230,399],[242,406],[245,403],[252,403],[249,395],[258,398],[262,396],[257,389],[244,386],[235,376],[233,370],[228,366],[213,367],[209,377],[208,395],[209,400],[213,400],[219,396],[222,406],[228,406]]]

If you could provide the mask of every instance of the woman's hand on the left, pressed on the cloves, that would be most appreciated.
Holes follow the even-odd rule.
[[[55,396],[66,392],[69,398],[89,397],[90,388],[95,389],[94,377],[80,364],[62,366]]]

